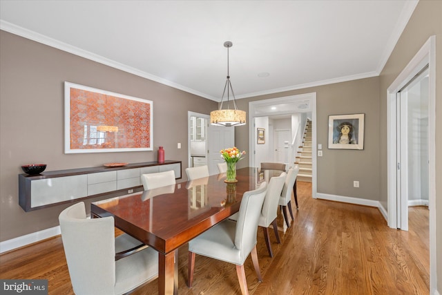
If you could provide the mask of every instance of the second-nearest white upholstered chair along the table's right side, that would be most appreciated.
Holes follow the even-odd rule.
[[[265,194],[264,204],[262,204],[260,219],[258,220],[258,226],[262,228],[264,233],[264,239],[269,251],[269,256],[273,257],[273,251],[271,251],[271,244],[269,238],[269,226],[272,225],[275,232],[276,240],[278,244],[281,243],[278,233],[278,225],[276,223],[276,217],[278,216],[278,202],[281,196],[282,187],[284,187],[287,173],[282,172],[277,177],[270,178],[269,185],[267,186],[267,193]],[[238,220],[238,213],[229,217],[231,220]]]

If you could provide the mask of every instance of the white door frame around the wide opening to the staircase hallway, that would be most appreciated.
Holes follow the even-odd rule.
[[[305,93],[300,95],[291,95],[285,97],[277,97],[271,99],[262,99],[254,102],[249,102],[249,122],[254,122],[254,117],[262,117],[266,115],[276,115],[275,113],[260,113],[256,114],[256,108],[260,106],[271,106],[275,104],[290,104],[296,101],[308,101],[308,108],[299,109],[299,111],[285,111],[283,113],[278,113],[278,115],[294,114],[294,113],[310,113],[311,112],[311,122],[313,123],[311,127],[311,196],[316,199],[317,187],[316,187],[316,92]],[[253,124],[249,124],[249,166],[252,166],[255,162],[255,155],[253,154],[254,143],[256,142],[255,128]]]

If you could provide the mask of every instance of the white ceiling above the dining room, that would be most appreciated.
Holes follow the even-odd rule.
[[[220,101],[224,41],[237,99],[373,77],[416,3],[0,0],[0,28]]]

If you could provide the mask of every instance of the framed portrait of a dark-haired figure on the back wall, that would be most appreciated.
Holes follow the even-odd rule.
[[[364,149],[364,117],[329,115],[329,149]]]

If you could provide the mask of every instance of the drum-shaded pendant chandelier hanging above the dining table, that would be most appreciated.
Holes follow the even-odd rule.
[[[246,112],[238,110],[236,106],[235,94],[233,93],[232,84],[229,76],[229,48],[233,46],[231,41],[225,41],[224,47],[227,47],[227,80],[222,92],[220,108],[217,111],[211,111],[210,123],[217,126],[241,126],[246,124]],[[224,102],[224,94],[227,89],[227,108],[222,109]],[[230,108],[230,93],[233,96],[233,109]]]

